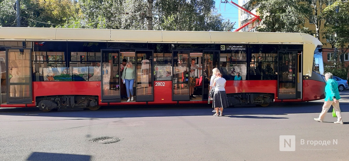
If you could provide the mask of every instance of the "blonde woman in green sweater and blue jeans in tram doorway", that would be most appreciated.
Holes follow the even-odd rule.
[[[127,62],[126,68],[124,68],[124,72],[122,72],[121,79],[122,81],[125,80],[125,85],[126,85],[126,93],[127,93],[127,102],[133,101],[133,84],[134,84],[134,79],[136,77],[136,71],[133,67],[132,62]],[[130,97],[131,93],[131,97]]]

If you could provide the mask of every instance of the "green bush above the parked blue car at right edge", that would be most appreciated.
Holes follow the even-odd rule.
[[[341,62],[329,62],[325,64],[325,72],[331,72],[334,76],[340,77],[342,79],[348,79],[348,68],[344,66]]]

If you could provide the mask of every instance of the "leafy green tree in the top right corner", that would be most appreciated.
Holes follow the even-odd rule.
[[[344,63],[343,55],[347,53],[349,43],[349,4],[337,0],[324,9],[322,16],[326,20],[324,38],[330,40],[332,48],[340,48],[340,59]]]

